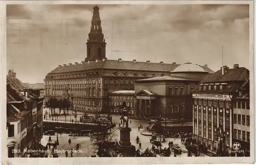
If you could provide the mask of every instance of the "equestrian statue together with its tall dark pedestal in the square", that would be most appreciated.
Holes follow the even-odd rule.
[[[125,154],[134,155],[135,146],[131,145],[130,132],[132,129],[129,127],[129,117],[126,109],[123,109],[122,117],[120,118],[123,125],[119,127],[120,141],[118,143],[118,149]]]

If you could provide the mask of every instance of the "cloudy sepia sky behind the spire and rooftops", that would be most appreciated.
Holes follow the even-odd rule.
[[[108,59],[249,66],[249,5],[98,5]],[[43,82],[86,57],[94,5],[7,5],[7,69]]]

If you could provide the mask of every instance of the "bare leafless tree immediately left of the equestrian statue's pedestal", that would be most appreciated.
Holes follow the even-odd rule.
[[[95,132],[91,135],[92,148],[100,157],[117,157],[117,152],[113,149],[116,141],[114,133]]]

